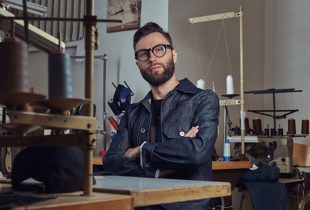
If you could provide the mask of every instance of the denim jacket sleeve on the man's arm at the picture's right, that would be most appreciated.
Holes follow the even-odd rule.
[[[182,115],[178,115],[177,113],[181,111],[178,111],[177,106],[174,107],[173,116],[182,117],[182,120],[173,119],[171,115],[164,122],[166,124],[162,125],[162,135],[166,135],[168,141],[161,144],[146,143],[143,146],[141,156],[143,169],[147,169],[151,165],[155,168],[171,170],[184,170],[186,168],[189,170],[204,164],[206,161],[211,161],[211,154],[217,137],[218,97],[211,91],[203,91],[193,103],[193,111],[184,111],[183,109]],[[175,124],[173,124],[173,120],[175,120]],[[179,137],[177,135],[179,131],[176,128],[179,128],[180,124],[177,122],[189,123],[188,128],[199,125],[199,132],[196,137]]]

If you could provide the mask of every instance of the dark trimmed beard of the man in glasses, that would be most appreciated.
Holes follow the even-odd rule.
[[[163,68],[163,72],[151,72],[150,68],[155,65],[160,65]],[[174,62],[171,59],[166,64],[153,63],[149,68],[140,68],[142,77],[152,86],[158,87],[167,82],[174,73]]]

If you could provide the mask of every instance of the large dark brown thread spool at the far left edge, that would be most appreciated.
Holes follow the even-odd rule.
[[[0,91],[29,91],[28,46],[15,37],[0,43]]]

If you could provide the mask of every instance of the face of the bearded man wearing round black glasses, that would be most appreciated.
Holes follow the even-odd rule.
[[[139,40],[136,45],[136,52],[142,49],[150,49],[156,45],[169,45],[168,41],[160,33],[149,34]],[[146,61],[137,60],[142,77],[152,86],[158,87],[167,82],[174,74],[174,63],[177,52],[166,48],[162,57],[156,57],[150,51],[150,58]]]

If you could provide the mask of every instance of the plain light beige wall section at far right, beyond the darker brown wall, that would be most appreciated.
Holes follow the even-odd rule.
[[[276,94],[278,110],[298,109],[285,119],[276,120],[276,127],[288,131],[288,119],[296,120],[296,133],[301,135],[303,118],[310,118],[310,1],[266,0],[265,18],[265,89],[302,90]],[[272,96],[265,95],[265,108],[272,109]],[[279,114],[286,112],[278,112]],[[264,125],[272,123],[265,117]],[[310,145],[310,137],[295,137],[294,142]],[[302,170],[310,172],[309,168]]]

